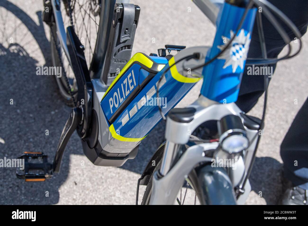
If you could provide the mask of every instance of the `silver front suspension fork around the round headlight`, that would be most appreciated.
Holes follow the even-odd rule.
[[[217,142],[198,144],[189,147],[180,160],[170,168],[173,164],[173,156],[178,152],[178,145],[184,145],[189,141],[189,132],[194,131],[199,125],[205,121],[220,120],[226,115],[237,115],[241,117],[243,113],[235,103],[220,104],[211,101],[204,96],[200,96],[197,101],[188,107],[196,109],[193,121],[189,123],[180,123],[173,121],[167,117],[166,123],[166,145],[164,155],[160,168],[160,176],[158,172],[154,173],[152,179],[152,194],[150,204],[174,204],[176,196],[183,185],[184,180],[194,167],[201,162],[211,162],[213,158],[205,157],[204,153],[208,150],[216,149]],[[244,119],[241,117],[242,122]],[[258,130],[251,130],[245,127],[250,146],[245,150],[244,159],[240,158],[236,162],[236,169],[229,170],[229,178],[236,187],[241,183],[242,178],[246,175],[248,166],[253,158],[253,151],[255,149],[257,139],[255,139]],[[247,180],[244,188],[245,192],[237,200],[237,204],[244,204],[251,190],[249,180]]]

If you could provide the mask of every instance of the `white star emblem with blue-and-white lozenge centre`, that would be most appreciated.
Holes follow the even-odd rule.
[[[225,46],[228,45],[231,38],[233,38],[234,32],[230,30],[230,38],[222,36],[223,40],[226,40],[221,46],[217,46],[218,49],[222,50]],[[223,68],[226,68],[232,65],[232,72],[235,73],[237,66],[240,66],[241,69],[244,69],[244,61],[247,59],[247,53],[249,50],[250,44],[250,33],[245,35],[244,29],[241,29],[240,33],[233,39],[232,43],[225,50],[224,53],[221,54],[218,59],[225,60],[225,64]]]

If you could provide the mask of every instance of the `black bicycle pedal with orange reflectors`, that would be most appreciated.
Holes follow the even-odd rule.
[[[52,177],[52,164],[42,152],[24,152],[18,159],[23,159],[23,168],[16,169],[16,176],[25,181],[45,181]]]

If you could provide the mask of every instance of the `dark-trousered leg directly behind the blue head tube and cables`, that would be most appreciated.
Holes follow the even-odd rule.
[[[297,26],[298,30],[303,34],[306,33],[308,25],[308,3],[307,0],[269,0],[278,9],[280,9],[290,20]],[[278,54],[282,51],[283,47],[286,46],[283,39],[281,38],[278,31],[274,28],[272,23],[261,13],[262,24],[265,36],[265,45],[267,56],[269,58],[276,58]],[[280,21],[277,19],[278,22]],[[294,40],[295,37],[293,32],[286,27],[285,24],[281,23],[282,27],[289,34],[290,39]],[[253,33],[251,36],[251,42],[249,47],[248,56],[249,58],[262,58],[259,34],[257,29],[257,22],[255,22],[253,27]],[[272,66],[274,70],[276,64],[273,65],[259,65],[262,66]],[[257,67],[257,65],[255,66]],[[250,109],[257,103],[259,97],[265,91],[264,87],[264,75],[249,75],[247,74],[248,66],[245,66],[245,71],[243,73],[241,87],[239,91],[239,96],[236,101],[237,106],[245,113],[249,112]]]

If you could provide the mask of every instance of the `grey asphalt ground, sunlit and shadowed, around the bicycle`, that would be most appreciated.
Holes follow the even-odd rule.
[[[165,44],[190,47],[210,46],[213,42],[215,27],[192,1],[181,0],[175,4],[171,0],[136,0],[131,3],[141,8],[133,54],[156,53]],[[51,66],[50,34],[42,23],[42,10],[42,1],[0,1],[2,159],[16,158],[24,151],[42,151],[52,160],[70,113],[70,108],[59,99],[52,76],[36,75],[37,66]],[[305,35],[301,54],[278,63],[270,83],[265,131],[250,176],[252,191],[246,204],[277,204],[279,201],[282,192],[280,143],[308,96],[307,43]],[[179,106],[196,100],[200,87],[201,82]],[[262,106],[260,98],[250,114],[260,117]],[[164,123],[160,123],[142,141],[134,160],[123,167],[99,167],[83,155],[79,137],[74,133],[67,145],[61,172],[51,180],[25,183],[16,178],[14,168],[0,168],[0,204],[134,204],[140,173],[163,140]]]

